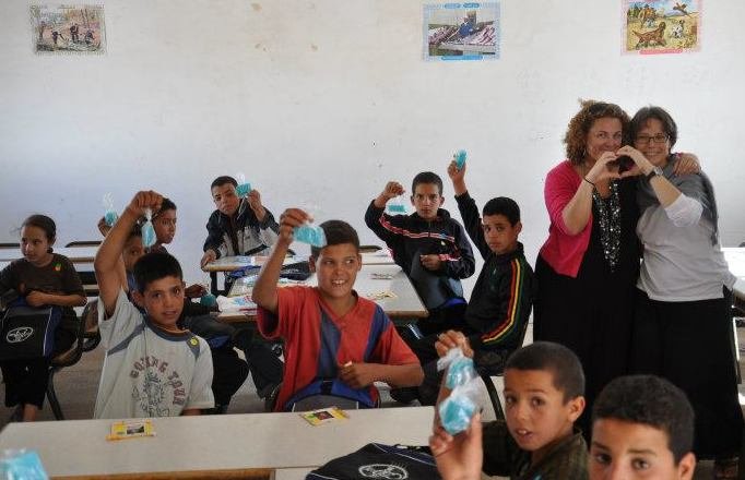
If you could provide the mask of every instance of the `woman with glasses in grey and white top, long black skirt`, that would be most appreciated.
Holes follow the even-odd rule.
[[[731,348],[732,287],[719,244],[714,192],[703,172],[674,176],[677,127],[660,107],[631,119],[618,149],[639,175],[637,235],[643,261],[636,284],[631,369],[664,376],[696,411],[695,453],[716,458],[716,478],[737,478],[743,418]]]

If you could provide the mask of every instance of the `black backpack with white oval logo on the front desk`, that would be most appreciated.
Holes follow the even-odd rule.
[[[438,480],[435,458],[419,447],[368,443],[334,458],[307,475],[306,480]]]

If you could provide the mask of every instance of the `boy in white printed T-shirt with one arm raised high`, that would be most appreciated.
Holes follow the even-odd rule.
[[[95,418],[175,417],[212,408],[212,358],[206,341],[177,322],[184,310],[178,261],[147,253],[134,264],[132,292],[146,315],[129,302],[118,263],[129,232],[163,197],[139,192],[108,232],[94,262],[100,296],[98,325],[106,349]]]

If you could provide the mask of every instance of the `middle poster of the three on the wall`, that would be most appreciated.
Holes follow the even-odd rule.
[[[425,60],[499,58],[499,3],[424,5]]]

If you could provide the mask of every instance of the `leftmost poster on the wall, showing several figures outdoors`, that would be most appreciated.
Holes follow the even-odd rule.
[[[31,5],[36,53],[104,53],[103,5]]]

